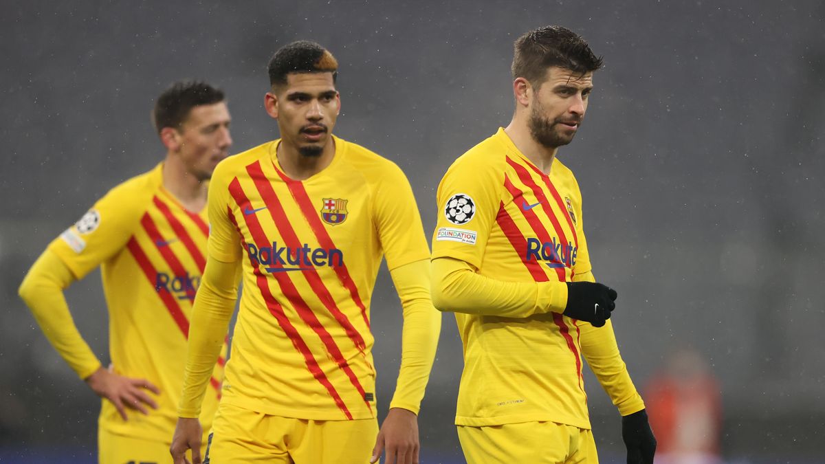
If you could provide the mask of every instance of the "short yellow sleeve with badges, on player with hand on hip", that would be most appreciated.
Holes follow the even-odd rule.
[[[111,189],[49,244],[74,277],[82,279],[125,247],[146,209],[142,185],[132,180]]]

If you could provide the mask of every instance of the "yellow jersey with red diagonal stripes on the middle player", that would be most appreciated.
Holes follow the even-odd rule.
[[[299,419],[375,417],[370,297],[390,270],[427,259],[413,190],[387,159],[333,137],[304,181],[280,140],[221,162],[210,186],[210,259],[243,260],[243,296],[222,401]]]

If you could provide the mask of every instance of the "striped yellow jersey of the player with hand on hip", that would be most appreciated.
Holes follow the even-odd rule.
[[[111,433],[172,440],[189,315],[206,263],[205,214],[186,211],[163,188],[162,163],[113,188],[49,245],[78,279],[101,266],[114,370],[161,391],[158,410],[144,416],[127,409],[128,421],[104,400],[99,425]],[[225,356],[224,343],[200,418],[205,430],[218,405]]]

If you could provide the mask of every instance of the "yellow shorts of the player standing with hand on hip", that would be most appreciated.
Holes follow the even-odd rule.
[[[172,435],[169,435],[172,438]],[[172,443],[126,437],[102,428],[97,430],[97,462],[100,464],[158,464],[172,462],[169,446]],[[206,452],[206,441],[200,448],[200,456]],[[191,462],[191,454],[186,452]]]

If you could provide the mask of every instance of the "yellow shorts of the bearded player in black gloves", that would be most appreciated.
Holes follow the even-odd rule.
[[[488,427],[458,426],[468,464],[530,462],[596,464],[591,430],[555,422],[525,422]]]

